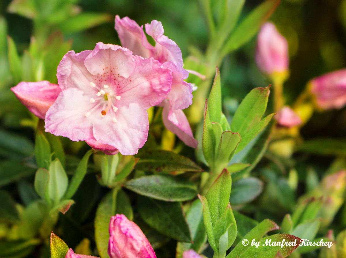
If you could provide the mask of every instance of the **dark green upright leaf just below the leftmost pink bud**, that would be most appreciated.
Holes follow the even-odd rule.
[[[48,169],[51,161],[51,146],[43,132],[36,132],[35,140],[35,158],[38,168]]]

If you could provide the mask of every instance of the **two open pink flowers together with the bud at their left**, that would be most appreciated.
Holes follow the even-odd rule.
[[[57,68],[58,85],[21,82],[12,91],[45,119],[47,132],[86,141],[106,154],[136,154],[147,140],[146,110],[156,105],[163,106],[165,126],[197,148],[182,111],[192,103],[192,85],[184,81],[189,73],[180,48],[156,20],[146,25],[155,47],[127,17],[116,17],[116,29],[127,48],[99,42],[93,50],[69,51]]]

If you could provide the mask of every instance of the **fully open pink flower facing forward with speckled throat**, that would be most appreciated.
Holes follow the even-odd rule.
[[[123,155],[144,145],[146,109],[160,104],[172,83],[171,71],[157,60],[101,42],[64,55],[57,78],[62,92],[46,113],[46,131]]]

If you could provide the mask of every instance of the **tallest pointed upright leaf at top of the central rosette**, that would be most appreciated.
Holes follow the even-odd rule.
[[[209,117],[211,122],[221,121],[221,82],[220,70],[216,68],[216,74],[208,98]]]

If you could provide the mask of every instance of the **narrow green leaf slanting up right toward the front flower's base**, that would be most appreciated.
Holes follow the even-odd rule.
[[[91,153],[92,150],[87,151],[82,160],[79,162],[78,167],[76,168],[76,171],[74,172],[69,184],[69,188],[67,189],[64,196],[65,199],[71,198],[78,189],[79,185],[82,183],[82,180],[86,174],[86,168],[88,167],[88,160]]]

